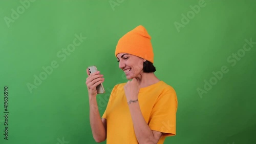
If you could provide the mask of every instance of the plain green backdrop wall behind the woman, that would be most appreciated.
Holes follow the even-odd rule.
[[[30,2],[8,24],[5,17],[12,18],[12,9],[17,12],[23,5],[0,1],[1,144],[60,144],[62,138],[66,143],[96,143],[86,68],[95,65],[104,74],[106,93],[97,97],[102,115],[113,87],[126,81],[115,46],[138,25],[152,36],[155,74],[177,92],[177,135],[165,143],[255,142],[256,45],[234,66],[227,58],[243,49],[245,39],[256,42],[256,1],[206,0],[179,30],[174,23],[182,24],[182,14],[198,0],[113,2],[118,5],[102,0]],[[87,39],[63,60],[57,53],[73,44],[75,34]],[[54,60],[58,67],[30,92],[27,84],[34,85],[34,75]],[[222,66],[229,71],[200,97],[197,89],[204,89],[204,80]],[[3,135],[4,86],[9,90],[8,140]]]

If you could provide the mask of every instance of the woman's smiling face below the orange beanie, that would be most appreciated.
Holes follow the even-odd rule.
[[[132,54],[119,53],[117,61],[119,61],[119,68],[124,71],[126,78],[132,79],[142,74],[143,61],[146,60]]]

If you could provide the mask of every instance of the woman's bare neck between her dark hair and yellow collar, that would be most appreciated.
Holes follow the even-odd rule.
[[[142,73],[140,78],[140,88],[144,88],[160,81],[156,75],[152,73]]]

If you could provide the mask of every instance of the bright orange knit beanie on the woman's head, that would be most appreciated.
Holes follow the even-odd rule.
[[[117,56],[118,53],[129,53],[154,63],[151,36],[141,25],[127,32],[118,40],[115,56]]]

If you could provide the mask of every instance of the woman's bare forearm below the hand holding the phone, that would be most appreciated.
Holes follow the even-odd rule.
[[[93,133],[93,138],[96,142],[104,141],[106,139],[106,130],[101,121],[96,96],[89,96],[89,105],[90,125]]]

